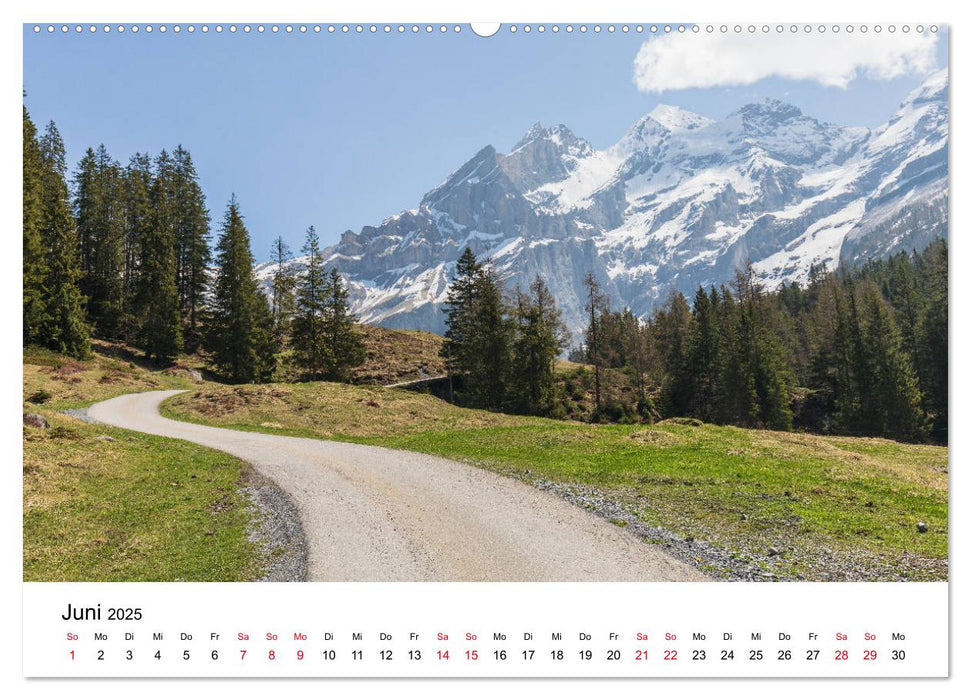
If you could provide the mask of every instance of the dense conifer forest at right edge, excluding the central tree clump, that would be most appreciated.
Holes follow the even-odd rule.
[[[639,412],[776,430],[947,440],[947,244],[859,269],[813,266],[768,291],[670,294],[648,319],[612,311],[588,278],[580,355],[620,368]],[[601,399],[597,399],[602,408]]]

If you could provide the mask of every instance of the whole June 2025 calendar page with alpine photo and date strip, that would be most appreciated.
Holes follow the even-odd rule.
[[[78,17],[24,677],[949,675],[946,24]]]

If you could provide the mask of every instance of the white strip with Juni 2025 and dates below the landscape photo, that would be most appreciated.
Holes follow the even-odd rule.
[[[24,674],[943,677],[947,607],[946,583],[29,583]]]

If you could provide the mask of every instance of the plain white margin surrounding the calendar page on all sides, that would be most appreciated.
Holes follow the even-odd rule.
[[[813,0],[804,6],[783,5],[771,1],[759,2],[714,2],[704,0],[690,4],[649,4],[621,2],[619,0],[596,0],[579,2],[577,0],[559,0],[548,3],[529,3],[523,0],[480,0],[475,5],[446,0],[413,0],[410,3],[394,2],[393,0],[372,0],[368,3],[354,2],[345,4],[320,3],[274,0],[269,2],[253,2],[252,0],[238,0],[237,2],[209,2],[199,0],[167,0],[165,3],[132,3],[120,0],[87,0],[83,4],[77,1],[59,0],[44,3],[8,3],[2,10],[4,22],[0,35],[0,56],[2,56],[2,72],[4,89],[0,95],[4,96],[6,104],[0,110],[3,123],[0,127],[0,163],[4,164],[2,171],[3,187],[0,187],[0,212],[3,216],[3,231],[7,234],[8,245],[19,250],[20,237],[17,230],[20,227],[20,195],[16,193],[16,182],[19,174],[15,170],[20,162],[20,129],[15,122],[20,108],[15,103],[20,101],[22,86],[22,34],[23,22],[65,22],[65,21],[106,21],[112,22],[212,22],[213,20],[232,20],[234,22],[259,21],[313,21],[324,20],[333,22],[461,22],[469,21],[497,21],[506,19],[516,22],[636,22],[638,20],[664,21],[701,21],[701,22],[748,22],[769,21],[776,22],[922,22],[929,24],[950,25],[951,38],[951,101],[952,118],[951,133],[951,161],[950,175],[952,192],[962,190],[964,164],[969,158],[967,149],[963,146],[963,131],[958,129],[957,139],[954,138],[953,125],[960,120],[964,113],[965,92],[961,88],[964,58],[971,46],[964,43],[961,29],[965,26],[955,20],[958,18],[957,4],[946,0],[921,0],[920,2],[900,2],[885,0],[879,5],[864,3],[848,3],[845,0]],[[683,15],[683,16],[680,16]],[[69,67],[65,67],[69,70]],[[957,88],[957,89],[955,89]],[[14,136],[17,134],[17,136]],[[968,244],[963,236],[971,235],[964,232],[962,211],[967,207],[967,200],[960,196],[951,198],[952,232],[950,241],[951,269],[958,271],[951,280],[951,357],[967,357],[968,348],[967,303],[953,303],[955,300],[971,299],[968,277],[960,274],[965,264],[971,262],[968,257]],[[6,604],[8,624],[4,626],[2,643],[0,643],[0,658],[3,660],[3,687],[12,691],[15,696],[29,694],[30,697],[126,697],[137,694],[141,698],[171,697],[172,694],[190,693],[190,696],[226,695],[233,693],[234,697],[249,698],[263,697],[280,692],[304,694],[345,694],[360,696],[371,692],[388,695],[410,695],[414,693],[422,697],[455,697],[463,698],[495,698],[497,694],[513,693],[554,695],[555,697],[589,698],[592,694],[676,694],[678,697],[699,695],[721,697],[750,697],[753,694],[785,694],[785,697],[818,697],[819,695],[878,693],[885,698],[914,698],[926,692],[935,695],[949,696],[955,694],[959,680],[967,680],[971,672],[965,670],[966,664],[961,659],[971,657],[971,644],[964,640],[968,632],[967,604],[962,596],[957,594],[958,586],[963,583],[963,558],[966,547],[963,545],[967,538],[967,511],[954,508],[952,499],[951,514],[951,658],[952,678],[950,682],[921,682],[921,681],[818,681],[818,682],[790,682],[790,681],[490,681],[490,682],[461,682],[461,681],[328,681],[325,685],[310,685],[314,681],[220,681],[218,686],[214,682],[206,681],[87,681],[87,682],[25,682],[21,677],[20,630],[19,621],[20,591],[22,581],[22,523],[21,523],[21,472],[17,469],[20,460],[20,419],[14,405],[14,397],[21,393],[21,387],[13,377],[15,368],[20,367],[21,357],[15,337],[15,328],[20,318],[20,278],[21,272],[17,265],[19,255],[4,255],[3,270],[0,274],[0,300],[3,304],[2,318],[13,326],[8,330],[10,341],[2,349],[3,366],[10,368],[0,380],[3,396],[7,400],[0,413],[0,426],[3,426],[4,441],[10,452],[9,458],[4,460],[4,482],[2,484],[3,503],[0,512],[3,518],[3,593]],[[952,423],[957,429],[951,430],[951,493],[964,498],[967,495],[966,477],[963,475],[965,455],[969,454],[967,437],[962,434],[960,427],[968,411],[959,400],[968,395],[971,383],[964,362],[953,362],[951,368],[951,396]],[[820,584],[827,585],[827,584]],[[838,585],[838,584],[837,584]],[[542,687],[540,685],[542,683]],[[860,683],[866,683],[862,687]]]

